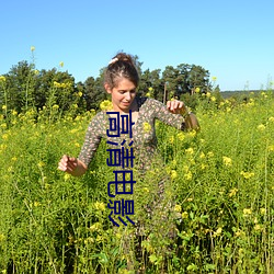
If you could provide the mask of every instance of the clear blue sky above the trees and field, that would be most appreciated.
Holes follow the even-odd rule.
[[[142,70],[194,64],[222,91],[266,88],[274,80],[273,0],[9,0],[0,8],[0,75],[22,60],[76,81],[98,77],[123,50]]]

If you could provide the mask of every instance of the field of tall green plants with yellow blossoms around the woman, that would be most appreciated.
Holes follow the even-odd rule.
[[[199,133],[157,124],[165,170],[136,184],[136,218],[149,227],[141,237],[109,219],[106,144],[84,176],[57,170],[64,153],[78,156],[94,113],[45,112],[0,116],[0,273],[135,273],[129,264],[140,273],[273,273],[273,92],[198,104]],[[164,199],[180,216],[175,237],[161,216],[148,221],[141,212],[163,172]]]

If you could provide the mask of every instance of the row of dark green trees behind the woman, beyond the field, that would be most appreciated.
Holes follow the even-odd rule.
[[[135,56],[140,75],[139,95],[149,95],[159,101],[183,95],[201,94],[218,90],[209,79],[209,71],[201,66],[180,64],[160,69],[141,70],[142,62]],[[26,60],[12,66],[10,71],[0,77],[0,104],[2,110],[18,113],[43,107],[58,106],[62,112],[76,106],[78,112],[98,111],[100,103],[109,99],[103,88],[104,68],[99,77],[88,77],[84,82],[76,82],[72,75],[59,68],[37,70],[34,62]],[[147,94],[148,95],[148,94]]]

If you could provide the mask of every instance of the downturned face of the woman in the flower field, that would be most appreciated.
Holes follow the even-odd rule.
[[[115,88],[105,84],[107,93],[112,94],[113,110],[116,112],[129,112],[130,105],[136,96],[136,87],[128,79],[121,78]]]

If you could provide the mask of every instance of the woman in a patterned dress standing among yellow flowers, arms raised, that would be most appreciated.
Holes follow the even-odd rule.
[[[110,61],[104,76],[104,88],[112,98],[112,113],[102,111],[92,118],[79,157],[62,156],[58,168],[71,175],[80,176],[88,170],[102,138],[106,139],[112,149],[117,149],[117,146],[126,141],[127,147],[130,147],[133,149],[130,151],[134,152],[134,168],[139,172],[136,176],[138,183],[135,184],[138,191],[135,189],[136,201],[134,201],[137,207],[137,216],[135,216],[137,239],[151,235],[151,231],[156,231],[153,235],[159,236],[159,239],[170,239],[170,231],[174,228],[174,222],[172,225],[174,218],[170,214],[173,204],[170,197],[167,198],[163,195],[167,176],[162,172],[164,169],[161,168],[162,163],[159,163],[157,157],[155,121],[158,118],[180,130],[198,129],[199,126],[195,115],[189,112],[181,101],[169,101],[165,106],[157,100],[136,96],[138,83],[139,76],[132,56],[124,53],[117,54]],[[117,113],[121,116],[122,128],[127,126],[123,124],[124,121],[132,121],[132,135],[121,134],[114,137],[107,135],[107,129],[111,126],[110,121],[114,117],[117,118]],[[158,172],[155,172],[152,178],[148,180],[146,171],[151,172],[152,165],[157,167]],[[149,191],[144,194],[145,189]],[[109,204],[109,208],[113,207]],[[129,235],[122,244],[125,254],[129,254],[129,250],[136,248],[135,244],[129,243],[133,238],[133,235]],[[139,252],[139,254],[142,252],[140,247],[141,244],[137,244],[137,253]],[[135,261],[130,259],[128,265]],[[130,266],[128,267],[130,269]]]

